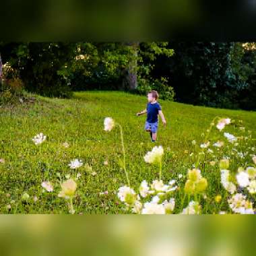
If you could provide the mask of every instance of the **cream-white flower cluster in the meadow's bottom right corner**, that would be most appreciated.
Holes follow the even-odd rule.
[[[228,203],[232,211],[236,214],[254,214],[253,203],[246,200],[246,196],[241,193],[236,193]]]

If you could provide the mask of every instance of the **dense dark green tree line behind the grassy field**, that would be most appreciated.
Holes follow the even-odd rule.
[[[0,54],[1,94],[19,83],[57,97],[74,90],[156,89],[164,99],[256,109],[255,43],[0,42]]]

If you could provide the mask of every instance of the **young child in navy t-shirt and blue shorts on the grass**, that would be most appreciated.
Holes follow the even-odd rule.
[[[162,108],[160,104],[157,102],[157,99],[158,99],[158,92],[154,90],[149,92],[147,108],[136,114],[137,116],[140,116],[147,113],[145,129],[146,131],[150,132],[152,142],[156,141],[156,131],[158,129],[158,115],[160,115],[164,126],[166,125],[166,120],[164,119]]]

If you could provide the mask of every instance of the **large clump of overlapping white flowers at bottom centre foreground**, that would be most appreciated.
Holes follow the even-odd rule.
[[[162,180],[155,180],[149,186],[147,181],[142,181],[138,195],[130,187],[123,186],[119,188],[117,196],[135,214],[171,214],[175,206],[174,198],[162,201],[162,197],[166,198],[166,193],[177,189],[175,182],[172,180],[165,185]],[[143,203],[141,197],[148,197],[150,201]]]

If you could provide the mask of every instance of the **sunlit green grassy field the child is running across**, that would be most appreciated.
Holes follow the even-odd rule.
[[[199,145],[203,143],[201,133],[210,126],[214,117],[235,120],[224,129],[237,136],[247,134],[255,138],[256,113],[192,106],[177,102],[161,101],[167,126],[160,122],[156,143],[143,130],[146,116],[136,113],[146,108],[147,98],[123,92],[76,92],[69,100],[37,97],[36,103],[19,104],[0,108],[0,211],[11,214],[59,214],[68,213],[67,202],[58,197],[60,183],[73,177],[77,191],[73,200],[75,213],[118,214],[124,213],[123,204],[116,192],[126,184],[125,173],[120,169],[122,148],[119,129],[103,130],[105,117],[112,117],[123,127],[127,170],[131,187],[138,189],[144,179],[149,183],[158,179],[158,166],[147,164],[143,156],[153,146],[164,148],[162,179],[178,179],[180,189],[173,192],[176,199],[174,213],[179,213],[189,203],[184,199],[183,187],[188,168],[197,161]],[[239,123],[242,120],[243,123]],[[240,124],[240,125],[239,125]],[[245,131],[238,127],[245,127]],[[215,128],[215,129],[214,129]],[[46,141],[36,146],[32,138],[38,133],[46,135]],[[213,127],[210,141],[225,141],[223,132]],[[197,141],[193,145],[191,141]],[[68,143],[69,146],[63,146]],[[228,146],[228,141],[225,141]],[[255,140],[241,141],[238,152],[247,152],[244,158],[230,154],[230,172],[236,173],[238,166],[253,163],[256,154]],[[230,212],[226,191],[220,184],[218,161],[231,152],[216,150],[200,159],[201,174],[208,181],[207,189],[200,197],[202,212]],[[193,153],[193,154],[191,154]],[[71,170],[68,164],[79,159],[84,165]],[[208,164],[216,161],[216,165]],[[77,174],[81,176],[77,177]],[[42,189],[42,181],[51,181],[54,191]],[[26,196],[24,197],[24,193]],[[28,197],[29,195],[29,197]],[[223,200],[216,203],[214,197]],[[254,198],[254,197],[253,197]],[[181,201],[184,201],[182,205]],[[255,207],[255,205],[254,205]]]

